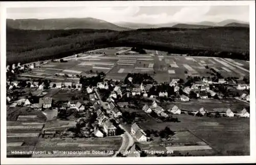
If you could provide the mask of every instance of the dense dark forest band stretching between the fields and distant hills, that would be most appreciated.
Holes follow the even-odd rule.
[[[7,27],[7,63],[61,58],[74,53],[130,46],[188,56],[249,60],[249,28],[18,30]]]

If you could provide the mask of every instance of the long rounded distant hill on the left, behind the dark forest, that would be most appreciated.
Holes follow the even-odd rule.
[[[68,30],[68,29],[108,29],[115,31],[131,30],[95,18],[56,18],[56,19],[7,19],[6,24],[13,29],[23,30]]]

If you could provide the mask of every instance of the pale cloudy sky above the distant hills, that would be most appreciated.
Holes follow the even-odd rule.
[[[249,22],[249,6],[129,6],[129,7],[37,7],[8,8],[7,18],[47,19],[93,17],[112,23],[219,22],[237,19]]]

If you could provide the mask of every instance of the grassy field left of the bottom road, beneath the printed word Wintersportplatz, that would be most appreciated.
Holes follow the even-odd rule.
[[[52,138],[39,139],[35,151],[49,151],[51,155],[33,155],[33,157],[102,157],[111,156],[117,151],[122,143],[121,137],[104,138]],[[55,153],[54,151],[66,151],[66,153]],[[80,151],[80,153],[68,154],[67,151]],[[83,153],[82,153],[83,151]],[[105,153],[94,153],[93,151],[105,151]]]

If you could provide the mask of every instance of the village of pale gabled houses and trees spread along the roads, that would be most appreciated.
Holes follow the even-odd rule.
[[[121,53],[124,52],[125,50]],[[76,55],[74,58],[79,57]],[[155,143],[154,140],[158,136],[161,137],[161,140],[165,139],[172,142],[176,131],[166,125],[162,130],[159,128],[158,135],[152,136],[157,133],[143,129],[143,123],[146,123],[147,120],[163,124],[172,122],[178,126],[182,124],[181,118],[186,117],[186,115],[195,117],[195,119],[203,117],[204,120],[216,118],[239,120],[250,116],[248,78],[224,78],[214,68],[209,69],[207,65],[205,69],[211,70],[212,76],[188,75],[185,79],[177,76],[167,82],[158,82],[152,78],[151,74],[147,73],[128,73],[122,80],[117,80],[116,78],[108,78],[108,73],[94,73],[93,70],[89,70],[86,75],[79,75],[74,70],[73,74],[70,75],[57,74],[58,78],[55,78],[54,81],[39,76],[32,78],[19,76],[20,74],[28,74],[35,68],[44,67],[44,65],[50,67],[49,62],[65,63],[63,59],[53,61],[18,63],[17,65],[13,64],[11,68],[7,66],[7,111],[25,109],[22,113],[18,112],[14,115],[16,119],[14,119],[13,114],[9,114],[13,118],[11,121],[18,122],[11,125],[7,123],[10,137],[14,137],[12,134],[22,133],[24,135],[26,133],[20,131],[28,132],[28,130],[33,129],[36,129],[36,134],[33,134],[33,137],[47,140],[48,138],[74,139],[118,136],[122,137],[122,145],[120,148],[116,148],[116,154],[113,152],[114,155],[111,156],[145,156],[145,153],[150,153],[147,149],[143,150],[145,152],[138,152],[143,149],[143,145],[146,148],[145,146],[148,147],[151,143]],[[121,62],[133,63],[128,60]],[[149,67],[153,67],[154,64],[150,65]],[[72,70],[69,72],[71,73]],[[66,80],[62,81],[62,77],[65,77]],[[239,104],[235,108],[227,106],[232,103]],[[211,106],[215,104],[216,106]],[[31,111],[33,115],[30,112],[25,112],[27,110]],[[38,115],[36,116],[38,113],[45,116],[45,119],[40,119],[42,120],[39,122],[40,124],[38,124]],[[18,126],[20,122],[25,122],[26,119],[28,119],[27,122],[32,122],[32,125],[27,123],[27,125]],[[44,120],[45,122],[43,122]],[[18,132],[12,132],[15,129],[19,129]],[[176,132],[176,134],[178,133]],[[16,147],[24,145],[16,141],[10,142],[10,145],[14,145],[14,143],[17,145]],[[157,144],[159,145],[159,143]],[[207,146],[204,143],[201,148],[195,150],[213,150]],[[185,146],[179,147],[165,146],[164,150],[169,151],[167,155],[174,154],[173,151],[186,151],[181,149]],[[190,150],[192,149],[187,151]],[[129,154],[122,154],[125,152]],[[181,152],[179,155],[182,155]]]

